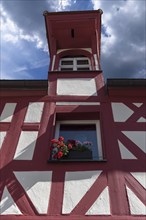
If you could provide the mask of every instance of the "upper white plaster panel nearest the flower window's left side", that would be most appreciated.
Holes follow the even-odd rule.
[[[44,102],[30,102],[24,122],[36,123],[41,121]]]

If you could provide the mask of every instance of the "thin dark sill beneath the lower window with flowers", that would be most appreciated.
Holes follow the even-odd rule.
[[[92,159],[63,159],[63,160],[52,160],[52,159],[49,159],[48,160],[48,163],[66,163],[66,162],[107,162],[106,159],[102,159],[102,160],[92,160]]]

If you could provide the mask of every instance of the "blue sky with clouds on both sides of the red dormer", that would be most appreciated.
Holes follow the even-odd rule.
[[[106,78],[146,78],[145,0],[1,0],[1,79],[47,79],[43,11],[103,10]]]

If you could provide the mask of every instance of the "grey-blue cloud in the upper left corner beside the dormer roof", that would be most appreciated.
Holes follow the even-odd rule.
[[[46,42],[43,12],[52,11],[58,0],[2,0],[7,15],[24,34],[37,34]]]

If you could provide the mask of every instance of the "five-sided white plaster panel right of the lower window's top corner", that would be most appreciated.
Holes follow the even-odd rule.
[[[134,111],[123,103],[112,103],[112,111],[115,122],[125,122]]]

